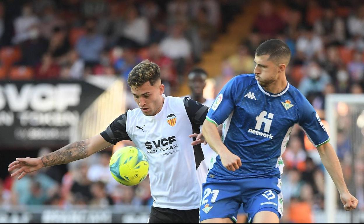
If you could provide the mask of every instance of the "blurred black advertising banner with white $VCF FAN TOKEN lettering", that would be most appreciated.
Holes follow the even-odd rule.
[[[103,91],[82,81],[0,82],[0,148],[68,144],[70,127]]]

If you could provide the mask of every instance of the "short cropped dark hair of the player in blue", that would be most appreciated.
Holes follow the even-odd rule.
[[[269,55],[269,60],[279,61],[281,58],[289,59],[291,51],[288,45],[278,39],[270,39],[262,42],[255,51],[256,56]],[[288,63],[287,63],[288,64]]]

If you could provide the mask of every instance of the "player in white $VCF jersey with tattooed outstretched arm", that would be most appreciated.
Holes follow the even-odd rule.
[[[128,110],[105,131],[68,144],[39,158],[16,158],[8,171],[23,178],[29,172],[86,158],[121,140],[132,140],[149,160],[154,203],[149,223],[198,223],[204,159],[201,145],[189,135],[200,133],[208,107],[189,98],[166,97],[159,66],[148,60],[132,69],[128,85],[139,108]],[[195,139],[193,139],[195,140]]]

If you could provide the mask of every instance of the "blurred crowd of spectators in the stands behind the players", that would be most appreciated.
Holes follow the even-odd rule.
[[[203,52],[211,50],[218,35],[226,32],[234,15],[249,13],[239,10],[249,1],[238,0],[22,2],[0,3],[0,78],[80,80],[96,74],[126,79],[135,65],[150,58],[161,67],[166,94],[178,89]],[[288,81],[325,120],[325,95],[363,93],[364,4],[314,0],[277,3],[260,3],[251,32],[242,37],[237,52],[226,57],[215,83],[252,73],[257,46],[269,38],[279,38],[292,52]],[[215,86],[214,94],[221,86]],[[324,124],[328,130],[327,122]],[[355,124],[343,119],[338,125],[337,154],[345,181],[351,183],[355,178],[356,197],[361,201],[363,177],[353,177],[351,163],[359,161],[356,172],[363,174],[364,145],[356,149],[353,158],[348,130]],[[39,155],[49,150],[42,148]],[[151,205],[149,179],[135,187],[116,183],[109,173],[110,156],[109,150],[71,163],[66,174],[48,167],[19,181],[8,176],[0,180],[0,204]],[[324,208],[324,167],[316,148],[298,126],[283,157],[285,215],[281,221],[312,223],[313,211]],[[364,210],[361,204],[359,208]]]

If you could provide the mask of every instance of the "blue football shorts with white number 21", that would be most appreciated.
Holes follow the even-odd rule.
[[[260,211],[271,211],[282,217],[282,182],[277,178],[217,180],[207,178],[202,184],[200,221],[230,218],[236,222],[240,205],[248,213],[249,223]]]

